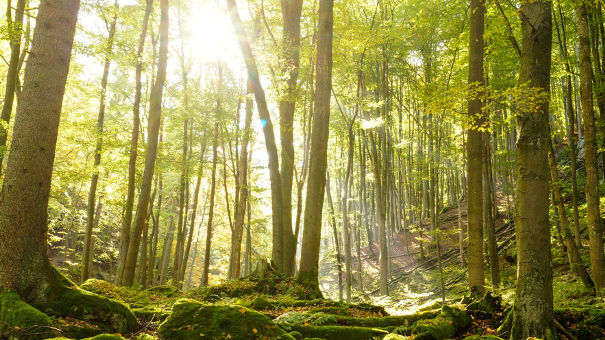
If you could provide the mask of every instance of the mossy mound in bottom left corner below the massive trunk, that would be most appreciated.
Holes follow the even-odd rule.
[[[56,334],[45,327],[52,325],[47,315],[25,303],[16,292],[0,294],[0,333],[8,339],[20,339],[24,332],[31,340],[51,338]]]

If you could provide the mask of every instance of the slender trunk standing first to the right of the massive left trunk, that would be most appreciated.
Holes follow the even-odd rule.
[[[86,220],[86,234],[84,236],[84,250],[82,252],[82,275],[80,275],[80,282],[84,282],[90,278],[91,268],[89,263],[92,263],[91,257],[93,256],[93,223],[94,223],[94,203],[97,195],[97,183],[99,183],[99,165],[101,164],[101,151],[103,148],[103,122],[105,120],[105,99],[107,94],[107,77],[110,74],[110,63],[111,55],[113,54],[113,41],[114,34],[116,33],[116,22],[117,22],[117,2],[114,5],[113,19],[109,27],[109,34],[107,37],[107,47],[105,50],[105,64],[103,65],[103,76],[101,78],[101,96],[99,99],[99,117],[97,118],[97,145],[94,149],[94,163],[93,163],[93,177],[90,180],[90,191],[88,192],[88,207],[87,207],[87,220]]]

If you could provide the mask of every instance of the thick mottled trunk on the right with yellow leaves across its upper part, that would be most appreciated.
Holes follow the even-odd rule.
[[[522,2],[517,99],[517,292],[511,339],[558,339],[553,319],[549,221],[548,125],[552,19],[550,1]]]

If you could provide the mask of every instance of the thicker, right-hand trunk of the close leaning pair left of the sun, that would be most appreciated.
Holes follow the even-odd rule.
[[[141,241],[141,232],[143,223],[147,217],[149,206],[149,196],[151,194],[151,181],[154,174],[155,158],[157,155],[158,135],[160,132],[160,121],[162,116],[162,93],[166,81],[166,65],[168,64],[168,0],[160,0],[160,53],[157,64],[157,76],[155,77],[154,87],[151,90],[151,99],[149,102],[149,118],[147,125],[148,145],[145,155],[145,170],[141,183],[141,192],[139,203],[137,204],[137,214],[134,217],[134,224],[130,233],[128,252],[123,268],[122,286],[132,286],[134,283],[134,273],[137,266],[137,255]]]

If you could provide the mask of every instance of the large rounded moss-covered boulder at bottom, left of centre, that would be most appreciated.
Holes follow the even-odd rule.
[[[255,310],[203,304],[192,299],[178,300],[158,332],[166,340],[199,339],[201,334],[208,339],[294,339]]]

